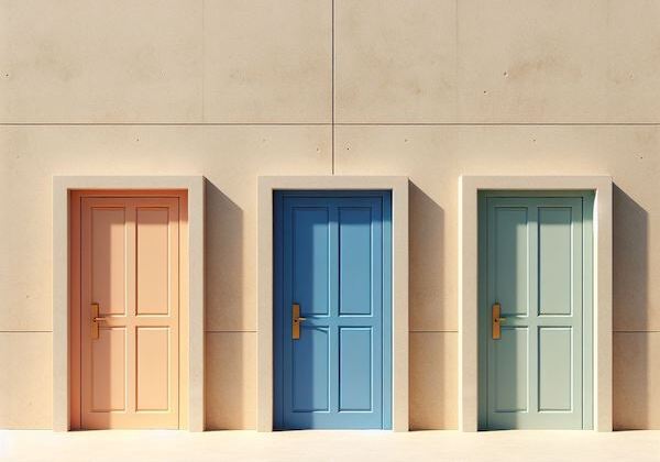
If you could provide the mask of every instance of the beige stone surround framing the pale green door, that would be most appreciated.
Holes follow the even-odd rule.
[[[612,431],[612,178],[459,178],[459,429],[479,425],[479,193],[593,191],[593,428]]]

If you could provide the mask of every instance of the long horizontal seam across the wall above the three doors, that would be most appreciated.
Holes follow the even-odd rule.
[[[1,127],[660,127],[660,122],[2,122]]]

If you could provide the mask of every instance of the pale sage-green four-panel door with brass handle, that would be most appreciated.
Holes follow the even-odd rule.
[[[592,205],[481,198],[482,428],[592,425]]]

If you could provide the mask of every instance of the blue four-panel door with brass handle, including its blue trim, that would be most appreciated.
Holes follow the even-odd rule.
[[[391,194],[275,195],[278,429],[391,428]]]

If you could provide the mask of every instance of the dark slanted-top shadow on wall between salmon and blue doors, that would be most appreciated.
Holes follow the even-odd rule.
[[[243,210],[208,179],[205,193],[206,426],[242,429]]]

